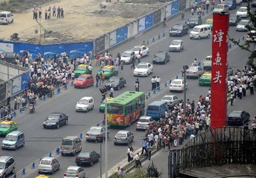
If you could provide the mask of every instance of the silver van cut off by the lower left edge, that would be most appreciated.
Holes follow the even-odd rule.
[[[0,156],[0,175],[7,177],[15,172],[15,160],[11,156]]]

